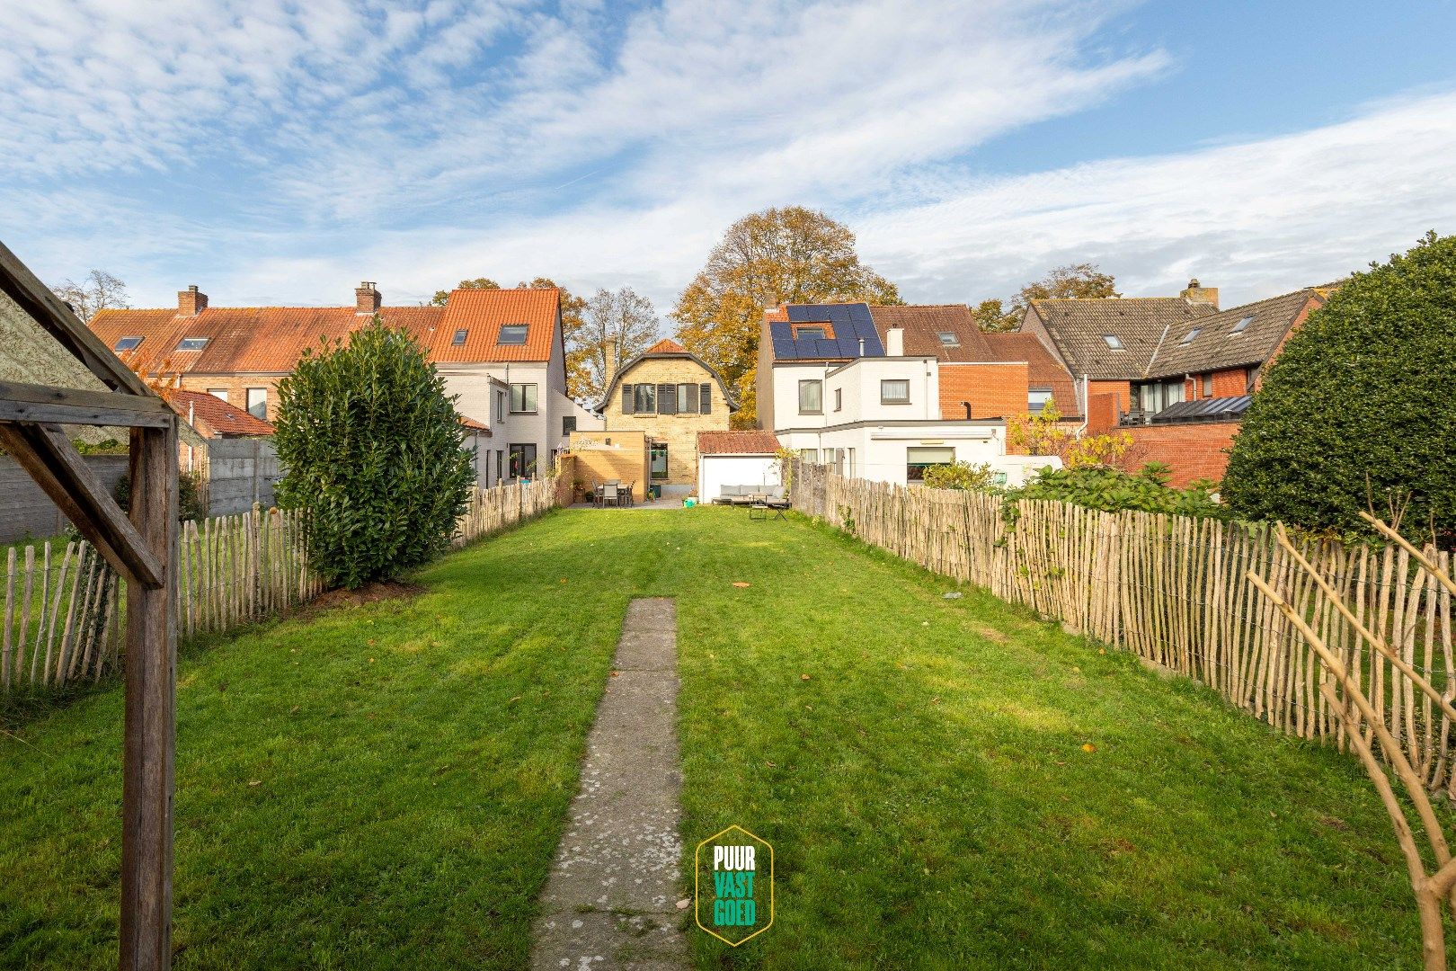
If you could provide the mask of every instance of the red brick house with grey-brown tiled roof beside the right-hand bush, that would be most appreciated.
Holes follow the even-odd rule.
[[[1125,429],[1133,464],[1163,461],[1172,485],[1222,479],[1262,370],[1329,287],[1219,309],[1197,280],[1178,297],[1034,300],[1022,333],[1077,380],[1088,432]]]

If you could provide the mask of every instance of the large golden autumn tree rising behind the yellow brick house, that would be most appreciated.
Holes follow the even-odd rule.
[[[753,428],[763,309],[863,300],[898,304],[893,282],[859,262],[855,234],[817,210],[791,205],[745,215],[724,233],[677,300],[677,339],[737,392],[734,425]]]

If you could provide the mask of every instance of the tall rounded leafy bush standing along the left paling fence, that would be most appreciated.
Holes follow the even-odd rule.
[[[309,510],[310,565],[357,588],[450,543],[473,473],[454,397],[403,330],[379,316],[348,345],[307,351],[278,383],[278,505]]]

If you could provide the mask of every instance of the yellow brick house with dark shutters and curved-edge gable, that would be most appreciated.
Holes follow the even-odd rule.
[[[697,432],[727,431],[738,403],[718,371],[662,339],[613,370],[593,411],[606,421],[603,434],[644,432],[651,483],[687,494],[697,486]]]

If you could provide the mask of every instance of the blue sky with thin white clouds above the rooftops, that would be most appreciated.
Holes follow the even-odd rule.
[[[1235,306],[1456,233],[1456,6],[0,0],[0,240],[132,306],[473,277],[665,314],[735,218],[910,303],[1092,262]]]

